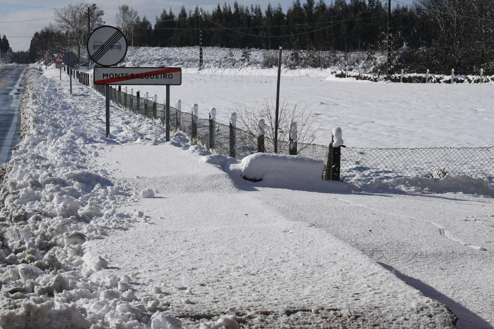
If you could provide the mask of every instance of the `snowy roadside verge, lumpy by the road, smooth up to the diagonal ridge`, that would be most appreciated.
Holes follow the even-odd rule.
[[[284,190],[198,163],[182,135],[165,144],[117,109],[105,139],[103,99],[43,75],[27,74],[25,137],[1,174],[1,328],[452,326],[304,218],[317,209],[288,216],[264,202]]]

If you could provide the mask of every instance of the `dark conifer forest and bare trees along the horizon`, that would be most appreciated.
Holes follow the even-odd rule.
[[[406,5],[392,0],[391,43],[394,61],[432,70],[494,71],[494,1],[415,0]],[[90,10],[87,10],[87,7]],[[201,8],[178,15],[163,9],[154,21],[128,5],[116,13],[116,25],[134,46],[195,46],[199,44]],[[204,46],[340,52],[376,52],[386,49],[387,0],[294,0],[286,12],[278,4],[218,4],[202,14]],[[37,32],[30,60],[57,49],[78,49],[84,56],[87,15],[91,28],[105,24],[98,5],[78,3],[55,10],[55,25]],[[79,15],[80,23],[68,24]],[[80,27],[73,25],[81,25]],[[112,25],[112,23],[106,23]],[[71,31],[73,30],[73,31]],[[74,37],[76,36],[76,37]],[[78,37],[79,36],[79,37]],[[47,41],[48,40],[48,41]],[[49,48],[49,49],[47,49]],[[81,51],[82,50],[82,51]]]

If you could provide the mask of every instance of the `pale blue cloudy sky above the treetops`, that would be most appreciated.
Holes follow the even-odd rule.
[[[281,3],[284,10],[292,3],[292,0],[237,0],[244,5],[260,4],[263,10],[266,8],[268,2],[272,5]],[[400,2],[412,3],[413,0],[400,0]],[[32,21],[32,22],[18,22],[27,21],[43,17],[53,16],[53,9],[63,7],[68,1],[60,0],[2,0],[0,11],[0,34],[6,35],[12,50],[28,50],[31,37],[36,31],[40,31],[44,26],[53,22],[52,18]],[[82,1],[81,1],[82,2]],[[186,0],[186,1],[163,1],[163,0],[90,0],[90,3],[99,4],[105,11],[104,20],[108,25],[115,25],[115,15],[119,5],[126,3],[139,13],[142,18],[146,16],[149,20],[154,20],[156,15],[161,14],[163,8],[168,10],[172,8],[175,14],[182,4],[185,5],[187,10],[193,9],[196,4],[203,7],[205,10],[215,7],[218,2],[224,3],[225,0]],[[233,4],[234,0],[226,1]],[[301,0],[304,2],[304,0]],[[330,3],[330,0],[326,0],[326,3]],[[396,2],[392,1],[392,6],[395,6]],[[7,23],[16,22],[16,23]]]

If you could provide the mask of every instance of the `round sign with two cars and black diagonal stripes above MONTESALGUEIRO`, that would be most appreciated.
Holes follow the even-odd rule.
[[[96,64],[113,66],[124,59],[127,40],[119,29],[104,25],[91,32],[87,39],[87,53]]]

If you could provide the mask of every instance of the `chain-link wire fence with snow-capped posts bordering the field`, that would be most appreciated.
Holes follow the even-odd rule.
[[[105,86],[94,85],[101,94]],[[110,99],[118,107],[143,117],[165,123],[165,105],[126,94],[110,88]],[[273,140],[259,139],[251,133],[209,119],[201,119],[192,112],[170,107],[170,127],[180,130],[213,152],[242,159],[264,151],[273,153]],[[278,141],[278,153],[296,154],[328,161],[329,146]],[[322,174],[322,173],[321,173]],[[341,147],[340,179],[356,184],[374,179],[388,180],[401,177],[440,179],[447,175],[468,175],[494,183],[494,146],[491,147],[427,147],[427,148],[355,148]]]

